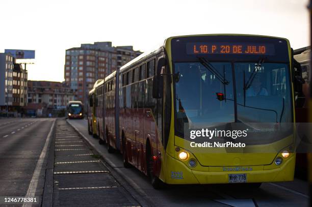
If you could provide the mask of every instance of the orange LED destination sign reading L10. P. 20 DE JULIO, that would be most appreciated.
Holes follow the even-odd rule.
[[[186,44],[187,54],[274,55],[273,44],[193,42]]]

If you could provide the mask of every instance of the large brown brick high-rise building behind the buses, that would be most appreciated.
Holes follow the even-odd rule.
[[[64,77],[74,92],[75,100],[87,103],[88,93],[97,79],[103,79],[120,64],[125,64],[138,54],[132,46],[113,47],[112,42],[81,44],[66,50]],[[119,66],[120,67],[120,66]]]

